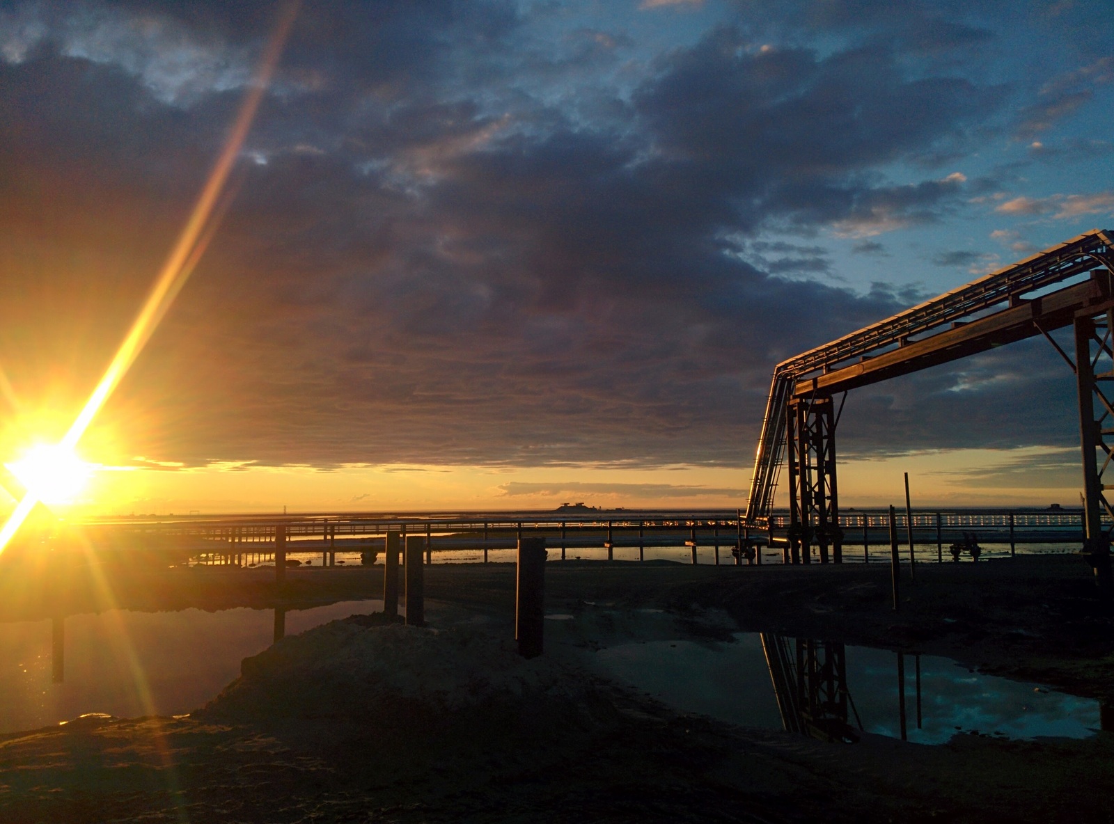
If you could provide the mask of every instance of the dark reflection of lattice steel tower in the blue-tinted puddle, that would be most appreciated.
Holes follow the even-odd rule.
[[[853,744],[859,735],[848,723],[854,703],[847,688],[847,654],[842,644],[762,634],[762,649],[781,723],[786,732],[824,742]],[[858,713],[856,713],[858,722]],[[862,723],[858,722],[859,729]]]

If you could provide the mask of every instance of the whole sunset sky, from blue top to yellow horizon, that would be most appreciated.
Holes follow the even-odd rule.
[[[0,2],[0,460],[57,441],[277,6]],[[1114,226],[1105,2],[302,4],[94,425],[101,513],[745,506],[779,361]],[[1030,340],[853,391],[843,507],[1074,504]]]

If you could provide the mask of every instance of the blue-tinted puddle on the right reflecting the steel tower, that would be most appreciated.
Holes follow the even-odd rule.
[[[737,632],[732,642],[619,644],[594,659],[604,674],[677,709],[825,740],[867,732],[942,744],[960,730],[1085,738],[1100,728],[1096,700],[936,656]]]

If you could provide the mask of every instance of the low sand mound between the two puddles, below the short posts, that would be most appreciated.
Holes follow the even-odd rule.
[[[526,660],[512,641],[467,628],[361,626],[338,620],[245,658],[241,677],[203,714],[336,717],[395,707],[447,713],[480,704],[576,702],[587,677],[545,657]]]

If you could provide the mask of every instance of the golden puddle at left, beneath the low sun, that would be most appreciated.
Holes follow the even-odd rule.
[[[285,631],[301,632],[382,601],[286,609]],[[62,680],[52,622],[0,624],[0,733],[58,724],[89,713],[121,718],[189,713],[240,676],[240,661],[274,639],[271,609],[138,612],[123,609],[65,619]]]

